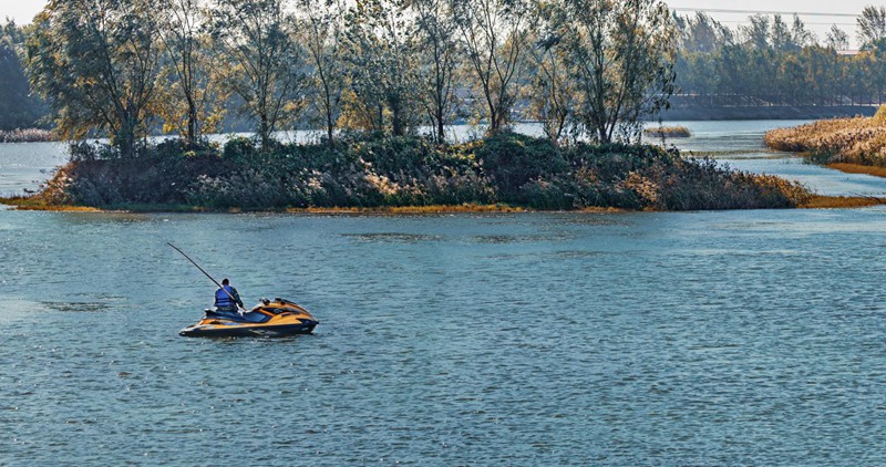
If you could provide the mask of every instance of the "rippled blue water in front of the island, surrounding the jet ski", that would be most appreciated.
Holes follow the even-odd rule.
[[[166,241],[321,324],[179,338],[214,287]],[[884,248],[884,208],[0,210],[0,465],[879,464]]]

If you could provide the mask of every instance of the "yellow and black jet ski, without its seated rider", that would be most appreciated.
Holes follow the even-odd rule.
[[[310,334],[320,322],[308,310],[284,299],[261,303],[240,314],[205,310],[200,322],[183,329],[188,338],[285,338]]]

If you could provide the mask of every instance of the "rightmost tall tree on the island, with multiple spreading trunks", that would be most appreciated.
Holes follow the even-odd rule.
[[[597,143],[639,141],[642,121],[674,91],[677,29],[657,0],[559,0],[553,10],[580,105],[576,124]]]

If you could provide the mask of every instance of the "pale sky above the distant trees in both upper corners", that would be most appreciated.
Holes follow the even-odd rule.
[[[802,13],[843,13],[858,14],[865,6],[880,7],[886,0],[666,0],[671,8],[700,8],[750,11],[783,11]],[[45,0],[0,0],[0,19],[12,18],[19,24],[31,22],[31,18],[45,6]],[[680,11],[682,14],[694,14],[691,11]],[[735,28],[746,21],[749,13],[711,13],[718,21]],[[790,14],[787,14],[790,15]],[[831,24],[841,23],[841,27],[855,39],[855,19],[824,15],[801,15],[808,29],[824,39]],[[821,23],[821,24],[818,24]]]

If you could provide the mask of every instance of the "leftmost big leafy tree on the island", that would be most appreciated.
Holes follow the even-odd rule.
[[[121,155],[135,154],[154,115],[162,50],[152,0],[52,1],[34,19],[28,68],[56,113],[58,132],[82,139],[107,131]]]

